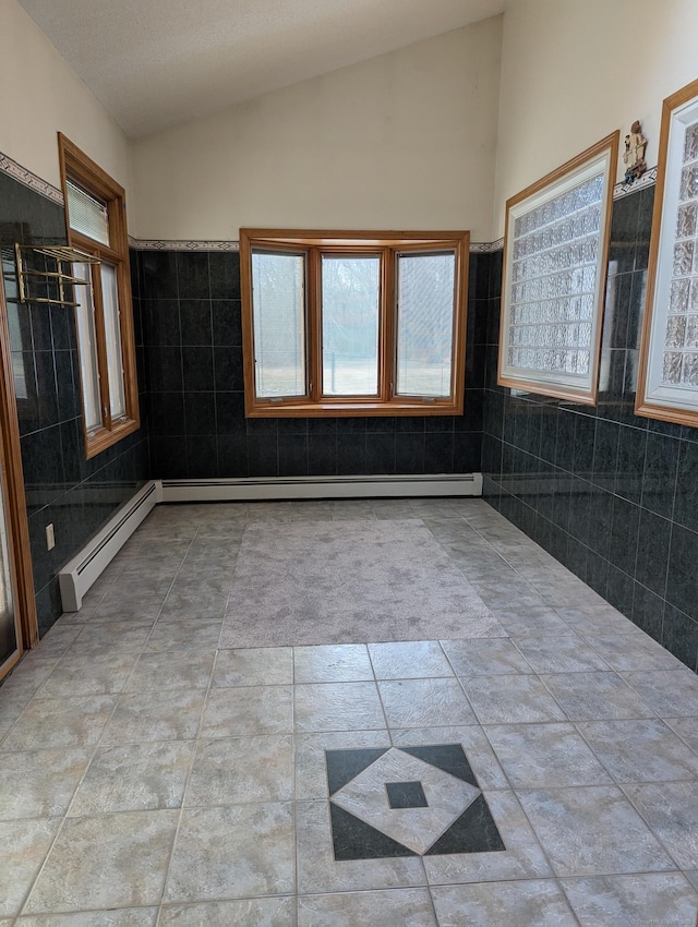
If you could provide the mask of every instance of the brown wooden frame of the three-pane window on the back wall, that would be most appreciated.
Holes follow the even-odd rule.
[[[240,229],[240,287],[245,416],[248,418],[320,418],[373,416],[459,416],[464,411],[466,317],[468,299],[468,231],[337,231]],[[306,255],[306,395],[280,400],[255,395],[252,252],[288,251]],[[452,382],[448,397],[422,398],[395,393],[396,383],[396,260],[398,254],[453,251],[455,254]],[[323,254],[380,254],[377,396],[327,397],[322,384],[322,316],[320,306]]]

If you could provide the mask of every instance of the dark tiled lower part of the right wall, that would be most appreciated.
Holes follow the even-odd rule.
[[[613,208],[595,408],[496,385],[493,255],[485,498],[693,670],[698,657],[698,430],[634,414],[654,188]]]

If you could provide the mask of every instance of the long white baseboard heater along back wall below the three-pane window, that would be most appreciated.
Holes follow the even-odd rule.
[[[163,480],[163,502],[481,496],[482,473]]]

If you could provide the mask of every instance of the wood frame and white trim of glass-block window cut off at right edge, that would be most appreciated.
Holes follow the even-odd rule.
[[[673,251],[681,202],[678,185],[684,166],[681,161],[677,165],[676,157],[677,144],[682,147],[684,144],[681,127],[686,110],[693,113],[689,121],[695,123],[698,120],[698,81],[693,81],[666,97],[662,105],[635,412],[645,418],[698,428],[698,386],[672,387],[662,381],[658,382],[657,360],[652,369],[652,353],[663,353],[665,348],[671,284],[672,279],[676,279],[673,275]],[[698,237],[695,237],[695,248],[698,249]],[[698,287],[698,276],[694,275],[690,286]],[[691,349],[693,352],[698,352],[698,348]]]

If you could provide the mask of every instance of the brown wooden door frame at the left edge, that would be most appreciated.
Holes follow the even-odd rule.
[[[28,308],[26,308],[28,311]],[[0,677],[7,675],[25,650],[39,639],[36,595],[32,571],[29,525],[24,492],[20,423],[12,373],[12,351],[4,288],[0,282],[0,467],[4,475],[10,573],[13,580],[13,604],[19,617],[20,639],[16,653],[2,664]]]

